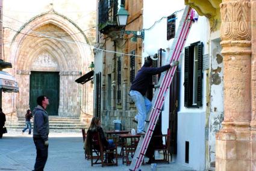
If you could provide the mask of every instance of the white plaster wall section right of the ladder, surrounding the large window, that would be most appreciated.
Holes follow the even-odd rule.
[[[210,28],[205,17],[199,17],[198,22],[193,23],[186,46],[190,43],[201,41],[204,43],[203,54],[208,54],[208,37]],[[184,50],[183,50],[184,53]],[[196,170],[205,169],[205,115],[206,115],[206,79],[204,71],[202,78],[202,107],[184,107],[184,58],[180,60],[180,99],[178,110],[178,154],[177,163],[185,163],[185,141],[189,141],[189,164]]]

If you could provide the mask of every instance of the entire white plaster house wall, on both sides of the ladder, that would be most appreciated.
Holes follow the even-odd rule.
[[[144,1],[143,7],[143,28],[151,27],[155,21],[161,17],[169,16],[177,10],[185,8],[184,1]],[[183,11],[177,13],[176,29]],[[210,28],[208,28],[208,20],[205,17],[200,17],[198,22],[193,23],[190,30],[186,46],[190,43],[201,41],[204,43],[203,54],[208,54],[208,37]],[[145,40],[143,48],[143,56],[147,56],[147,48],[157,49],[170,48],[173,40],[166,40],[166,19],[162,19],[156,23],[151,30],[145,30]],[[166,51],[167,52],[167,51]],[[184,50],[183,50],[184,53]],[[163,63],[164,64],[164,63]],[[180,59],[179,69],[180,76],[180,96],[178,110],[178,154],[176,155],[176,163],[184,164],[196,170],[204,170],[205,167],[205,113],[206,113],[206,73],[204,72],[202,81],[202,104],[200,108],[184,107],[184,58]],[[169,126],[169,93],[167,93],[166,101],[164,102],[164,111],[162,114],[162,131],[166,133]],[[185,163],[185,141],[190,142],[189,164]]]

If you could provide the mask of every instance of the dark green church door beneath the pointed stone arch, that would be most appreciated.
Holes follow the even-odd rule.
[[[31,72],[30,75],[30,108],[37,106],[37,97],[45,95],[49,98],[46,111],[50,116],[58,115],[60,99],[60,75],[58,72]]]

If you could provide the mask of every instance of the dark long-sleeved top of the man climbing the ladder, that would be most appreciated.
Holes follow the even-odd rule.
[[[131,90],[136,90],[140,92],[142,96],[146,95],[146,91],[151,82],[152,75],[156,75],[158,73],[164,72],[165,70],[170,68],[170,64],[167,64],[162,67],[145,67],[143,66],[136,74],[134,81],[131,85]]]

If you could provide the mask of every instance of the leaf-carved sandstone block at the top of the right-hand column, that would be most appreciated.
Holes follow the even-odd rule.
[[[220,4],[222,40],[251,40],[251,4],[249,1]]]

